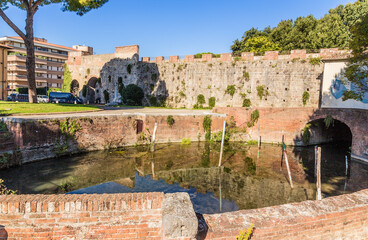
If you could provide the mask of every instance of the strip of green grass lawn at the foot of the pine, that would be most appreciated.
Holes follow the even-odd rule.
[[[0,116],[35,113],[60,113],[98,110],[97,106],[82,104],[25,103],[0,101]]]

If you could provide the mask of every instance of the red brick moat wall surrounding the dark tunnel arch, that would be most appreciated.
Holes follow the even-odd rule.
[[[334,108],[257,108],[259,120],[248,129],[251,139],[258,139],[258,124],[262,141],[280,143],[284,135],[286,144],[302,145],[301,134],[305,125],[311,121],[325,119],[328,115],[346,124],[352,133],[352,155],[354,158],[368,159],[368,114],[362,109]],[[251,113],[255,110],[234,107],[213,110],[227,115],[228,121],[234,117],[238,127],[247,126]]]

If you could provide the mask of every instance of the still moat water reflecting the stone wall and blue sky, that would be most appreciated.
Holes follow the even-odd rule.
[[[251,209],[315,199],[314,149],[288,148],[294,189],[281,166],[281,146],[157,144],[65,157],[0,171],[19,193],[185,191],[200,213]],[[322,147],[322,192],[325,196],[368,188],[368,166],[351,161],[345,177],[347,149]],[[102,184],[107,183],[107,184]],[[102,185],[100,185],[102,184]],[[98,186],[96,186],[98,185]],[[95,186],[94,188],[88,188]],[[88,188],[88,189],[86,189]]]

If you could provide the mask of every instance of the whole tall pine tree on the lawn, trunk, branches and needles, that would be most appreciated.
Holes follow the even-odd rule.
[[[76,12],[78,15],[89,12],[105,4],[108,0],[1,0],[0,16],[2,19],[21,37],[24,41],[27,51],[27,79],[29,102],[37,103],[36,94],[36,76],[35,76],[35,52],[34,52],[34,33],[33,18],[39,7],[50,4],[62,4],[63,11]],[[9,5],[18,7],[26,11],[25,32],[19,29],[12,20],[5,14]]]

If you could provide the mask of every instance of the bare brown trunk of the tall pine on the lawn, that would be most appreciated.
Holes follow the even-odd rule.
[[[27,80],[28,80],[28,98],[30,103],[37,103],[37,92],[36,92],[36,59],[34,52],[34,38],[33,38],[33,12],[27,10],[26,19],[26,39],[24,44],[27,49]]]

